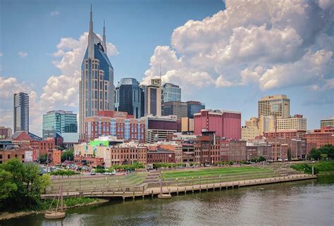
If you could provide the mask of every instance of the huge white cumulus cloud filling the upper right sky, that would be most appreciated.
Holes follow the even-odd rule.
[[[161,64],[163,82],[186,90],[333,89],[333,1],[226,0],[225,7],[177,27],[171,46],[156,46],[142,83],[159,76]]]

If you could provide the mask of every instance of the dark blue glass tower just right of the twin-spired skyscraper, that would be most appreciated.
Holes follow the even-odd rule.
[[[140,118],[142,90],[135,78],[123,78],[116,86],[115,111],[127,112],[135,118]]]

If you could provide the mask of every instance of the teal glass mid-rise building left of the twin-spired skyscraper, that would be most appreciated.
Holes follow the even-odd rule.
[[[42,134],[43,139],[56,137],[56,133],[77,133],[77,114],[73,111],[48,111],[43,115]]]

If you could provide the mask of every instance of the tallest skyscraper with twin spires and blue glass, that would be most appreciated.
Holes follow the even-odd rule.
[[[88,46],[81,65],[79,83],[79,134],[85,133],[85,118],[98,111],[113,110],[113,66],[106,54],[106,29],[102,40],[93,32],[93,13],[90,8]]]

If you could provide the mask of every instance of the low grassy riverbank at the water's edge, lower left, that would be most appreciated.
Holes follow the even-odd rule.
[[[90,201],[88,201],[90,199]],[[109,199],[92,199],[92,198],[85,198],[86,201],[82,201],[81,203],[78,203],[78,201],[74,201],[73,198],[67,198],[64,199],[64,203],[72,203],[73,205],[68,205],[68,206],[64,206],[64,209],[69,209],[69,208],[78,208],[78,207],[82,207],[82,206],[92,206],[92,205],[98,205],[101,203],[106,203],[109,202]],[[26,215],[32,215],[32,214],[41,214],[41,213],[45,213],[48,209],[49,209],[49,205],[50,203],[45,202],[41,204],[41,208],[42,210],[38,210],[38,211],[18,211],[18,212],[1,212],[0,213],[0,221],[1,220],[9,220],[12,218],[21,218],[23,216]],[[55,208],[52,208],[53,210]]]

